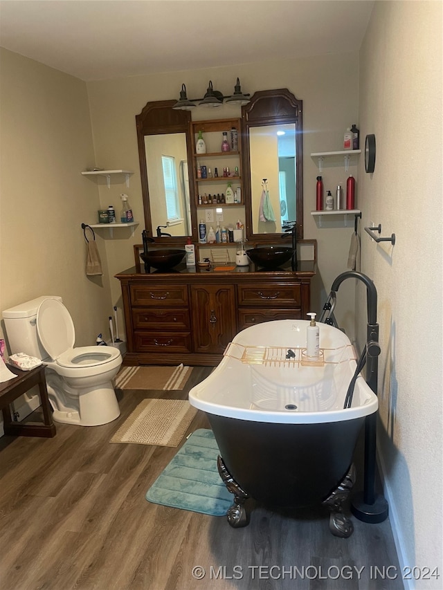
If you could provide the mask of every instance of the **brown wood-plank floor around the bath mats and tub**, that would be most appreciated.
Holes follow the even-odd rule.
[[[255,506],[249,526],[233,529],[224,517],[145,500],[177,448],[109,439],[142,398],[186,398],[211,370],[195,367],[183,391],[125,391],[107,425],[0,439],[1,590],[403,588],[389,520],[353,519],[343,540],[323,508]],[[188,432],[201,427],[198,412]]]

